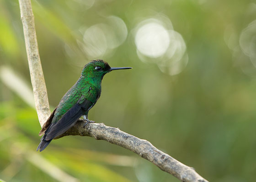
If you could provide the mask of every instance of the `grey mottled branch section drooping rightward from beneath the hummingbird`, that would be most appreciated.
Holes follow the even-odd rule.
[[[106,126],[103,123],[90,123],[85,128],[83,127],[84,124],[84,120],[77,121],[68,131],[55,139],[68,135],[91,136],[96,140],[105,140],[138,154],[182,182],[207,182],[192,167],[182,164],[146,140],[139,139],[118,128]]]

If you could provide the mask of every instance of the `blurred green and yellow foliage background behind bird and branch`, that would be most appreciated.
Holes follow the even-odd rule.
[[[82,66],[113,71],[89,119],[119,127],[209,181],[256,178],[254,0],[32,0],[49,103]],[[133,152],[40,137],[18,0],[0,0],[0,179],[8,182],[177,182]]]

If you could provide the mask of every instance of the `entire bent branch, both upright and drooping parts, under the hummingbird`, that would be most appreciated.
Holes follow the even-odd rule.
[[[33,94],[38,119],[42,127],[50,115],[50,109],[38,52],[34,16],[30,0],[19,0],[19,3]],[[139,139],[117,128],[105,126],[103,123],[90,123],[85,128],[83,127],[84,124],[85,121],[83,120],[77,121],[68,131],[55,139],[68,135],[91,136],[96,140],[105,140],[138,154],[140,157],[154,163],[161,170],[177,177],[182,182],[208,182],[197,174],[192,167],[188,167],[158,150],[146,140]]]

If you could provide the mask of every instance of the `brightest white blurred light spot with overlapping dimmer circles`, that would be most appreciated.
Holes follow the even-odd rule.
[[[137,55],[141,61],[155,63],[160,71],[171,76],[186,68],[186,43],[182,35],[173,30],[171,20],[166,16],[143,20],[134,32]]]

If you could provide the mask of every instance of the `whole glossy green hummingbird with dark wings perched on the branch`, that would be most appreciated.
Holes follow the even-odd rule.
[[[101,96],[101,81],[103,76],[113,70],[131,68],[110,67],[103,60],[93,60],[87,63],[83,67],[78,81],[62,97],[59,105],[44,123],[42,130],[39,132],[39,136],[43,135],[43,137],[37,147],[37,151],[43,151],[53,138],[67,131],[81,116],[86,121],[85,125],[95,122],[88,119],[88,112]]]

